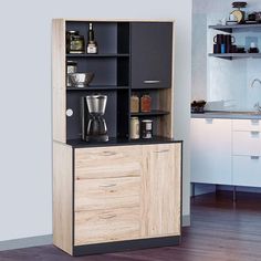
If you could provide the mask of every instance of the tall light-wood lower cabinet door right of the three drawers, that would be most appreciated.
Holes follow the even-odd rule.
[[[180,234],[180,144],[144,146],[142,236]]]

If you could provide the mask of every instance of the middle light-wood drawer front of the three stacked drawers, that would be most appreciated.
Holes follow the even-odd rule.
[[[139,206],[140,177],[75,180],[75,211]]]

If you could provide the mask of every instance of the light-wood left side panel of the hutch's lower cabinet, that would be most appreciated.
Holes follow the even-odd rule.
[[[72,147],[53,143],[53,243],[72,254]]]

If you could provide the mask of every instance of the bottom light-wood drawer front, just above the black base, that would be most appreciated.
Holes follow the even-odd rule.
[[[139,208],[75,212],[75,246],[138,239]]]

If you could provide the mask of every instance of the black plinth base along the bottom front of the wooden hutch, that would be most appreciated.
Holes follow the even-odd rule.
[[[179,243],[180,243],[180,236],[85,244],[85,246],[74,247],[73,255],[80,257],[86,254],[98,254],[98,253],[101,254],[101,253],[130,251],[130,250],[148,249],[148,248],[170,247],[170,246],[177,246]]]

